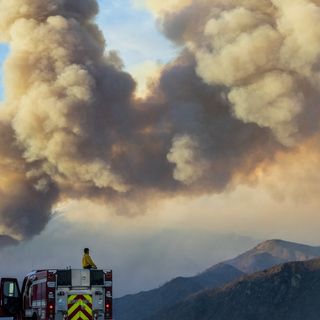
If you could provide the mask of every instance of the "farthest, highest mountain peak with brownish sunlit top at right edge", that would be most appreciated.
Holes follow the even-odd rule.
[[[244,273],[253,273],[289,261],[305,261],[318,257],[320,257],[320,247],[283,240],[268,240],[225,263]]]

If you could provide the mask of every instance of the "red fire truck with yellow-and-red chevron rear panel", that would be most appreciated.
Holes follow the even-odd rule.
[[[0,317],[17,320],[112,320],[112,271],[65,269],[2,278]]]

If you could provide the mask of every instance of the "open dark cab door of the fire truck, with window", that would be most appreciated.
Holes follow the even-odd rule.
[[[15,317],[21,311],[21,294],[17,279],[2,278],[0,317]]]

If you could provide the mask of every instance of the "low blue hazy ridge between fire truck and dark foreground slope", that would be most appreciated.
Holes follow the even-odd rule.
[[[218,264],[194,277],[179,277],[162,287],[115,299],[115,319],[143,320],[163,308],[173,306],[188,296],[235,280],[243,272],[227,264]]]

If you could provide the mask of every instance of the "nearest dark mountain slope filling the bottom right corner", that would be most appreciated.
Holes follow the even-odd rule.
[[[320,259],[291,262],[206,290],[147,320],[319,320]]]

